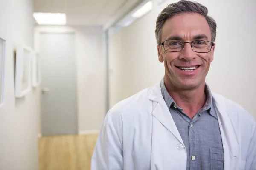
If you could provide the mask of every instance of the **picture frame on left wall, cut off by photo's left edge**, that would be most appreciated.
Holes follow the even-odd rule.
[[[0,38],[0,107],[4,103],[5,47],[6,40]]]

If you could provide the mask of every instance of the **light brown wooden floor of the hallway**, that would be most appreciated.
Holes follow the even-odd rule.
[[[98,134],[39,139],[40,170],[90,170]]]

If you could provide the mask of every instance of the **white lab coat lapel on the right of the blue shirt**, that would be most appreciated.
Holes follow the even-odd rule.
[[[226,103],[222,96],[212,93],[213,102],[218,115],[219,127],[224,149],[224,170],[236,169],[236,160],[239,156],[239,145],[233,124],[227,114]]]

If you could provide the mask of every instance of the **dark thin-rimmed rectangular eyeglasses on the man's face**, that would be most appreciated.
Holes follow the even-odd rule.
[[[180,40],[166,40],[160,45],[163,45],[165,51],[178,52],[184,48],[184,45],[188,43],[194,52],[197,53],[209,53],[212,50],[212,46],[215,44],[209,41],[195,40],[192,42],[184,42]]]

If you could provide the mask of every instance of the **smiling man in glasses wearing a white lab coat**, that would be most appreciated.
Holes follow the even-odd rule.
[[[216,23],[199,3],[179,1],[156,22],[165,75],[108,112],[92,170],[256,170],[256,122],[205,83]]]

